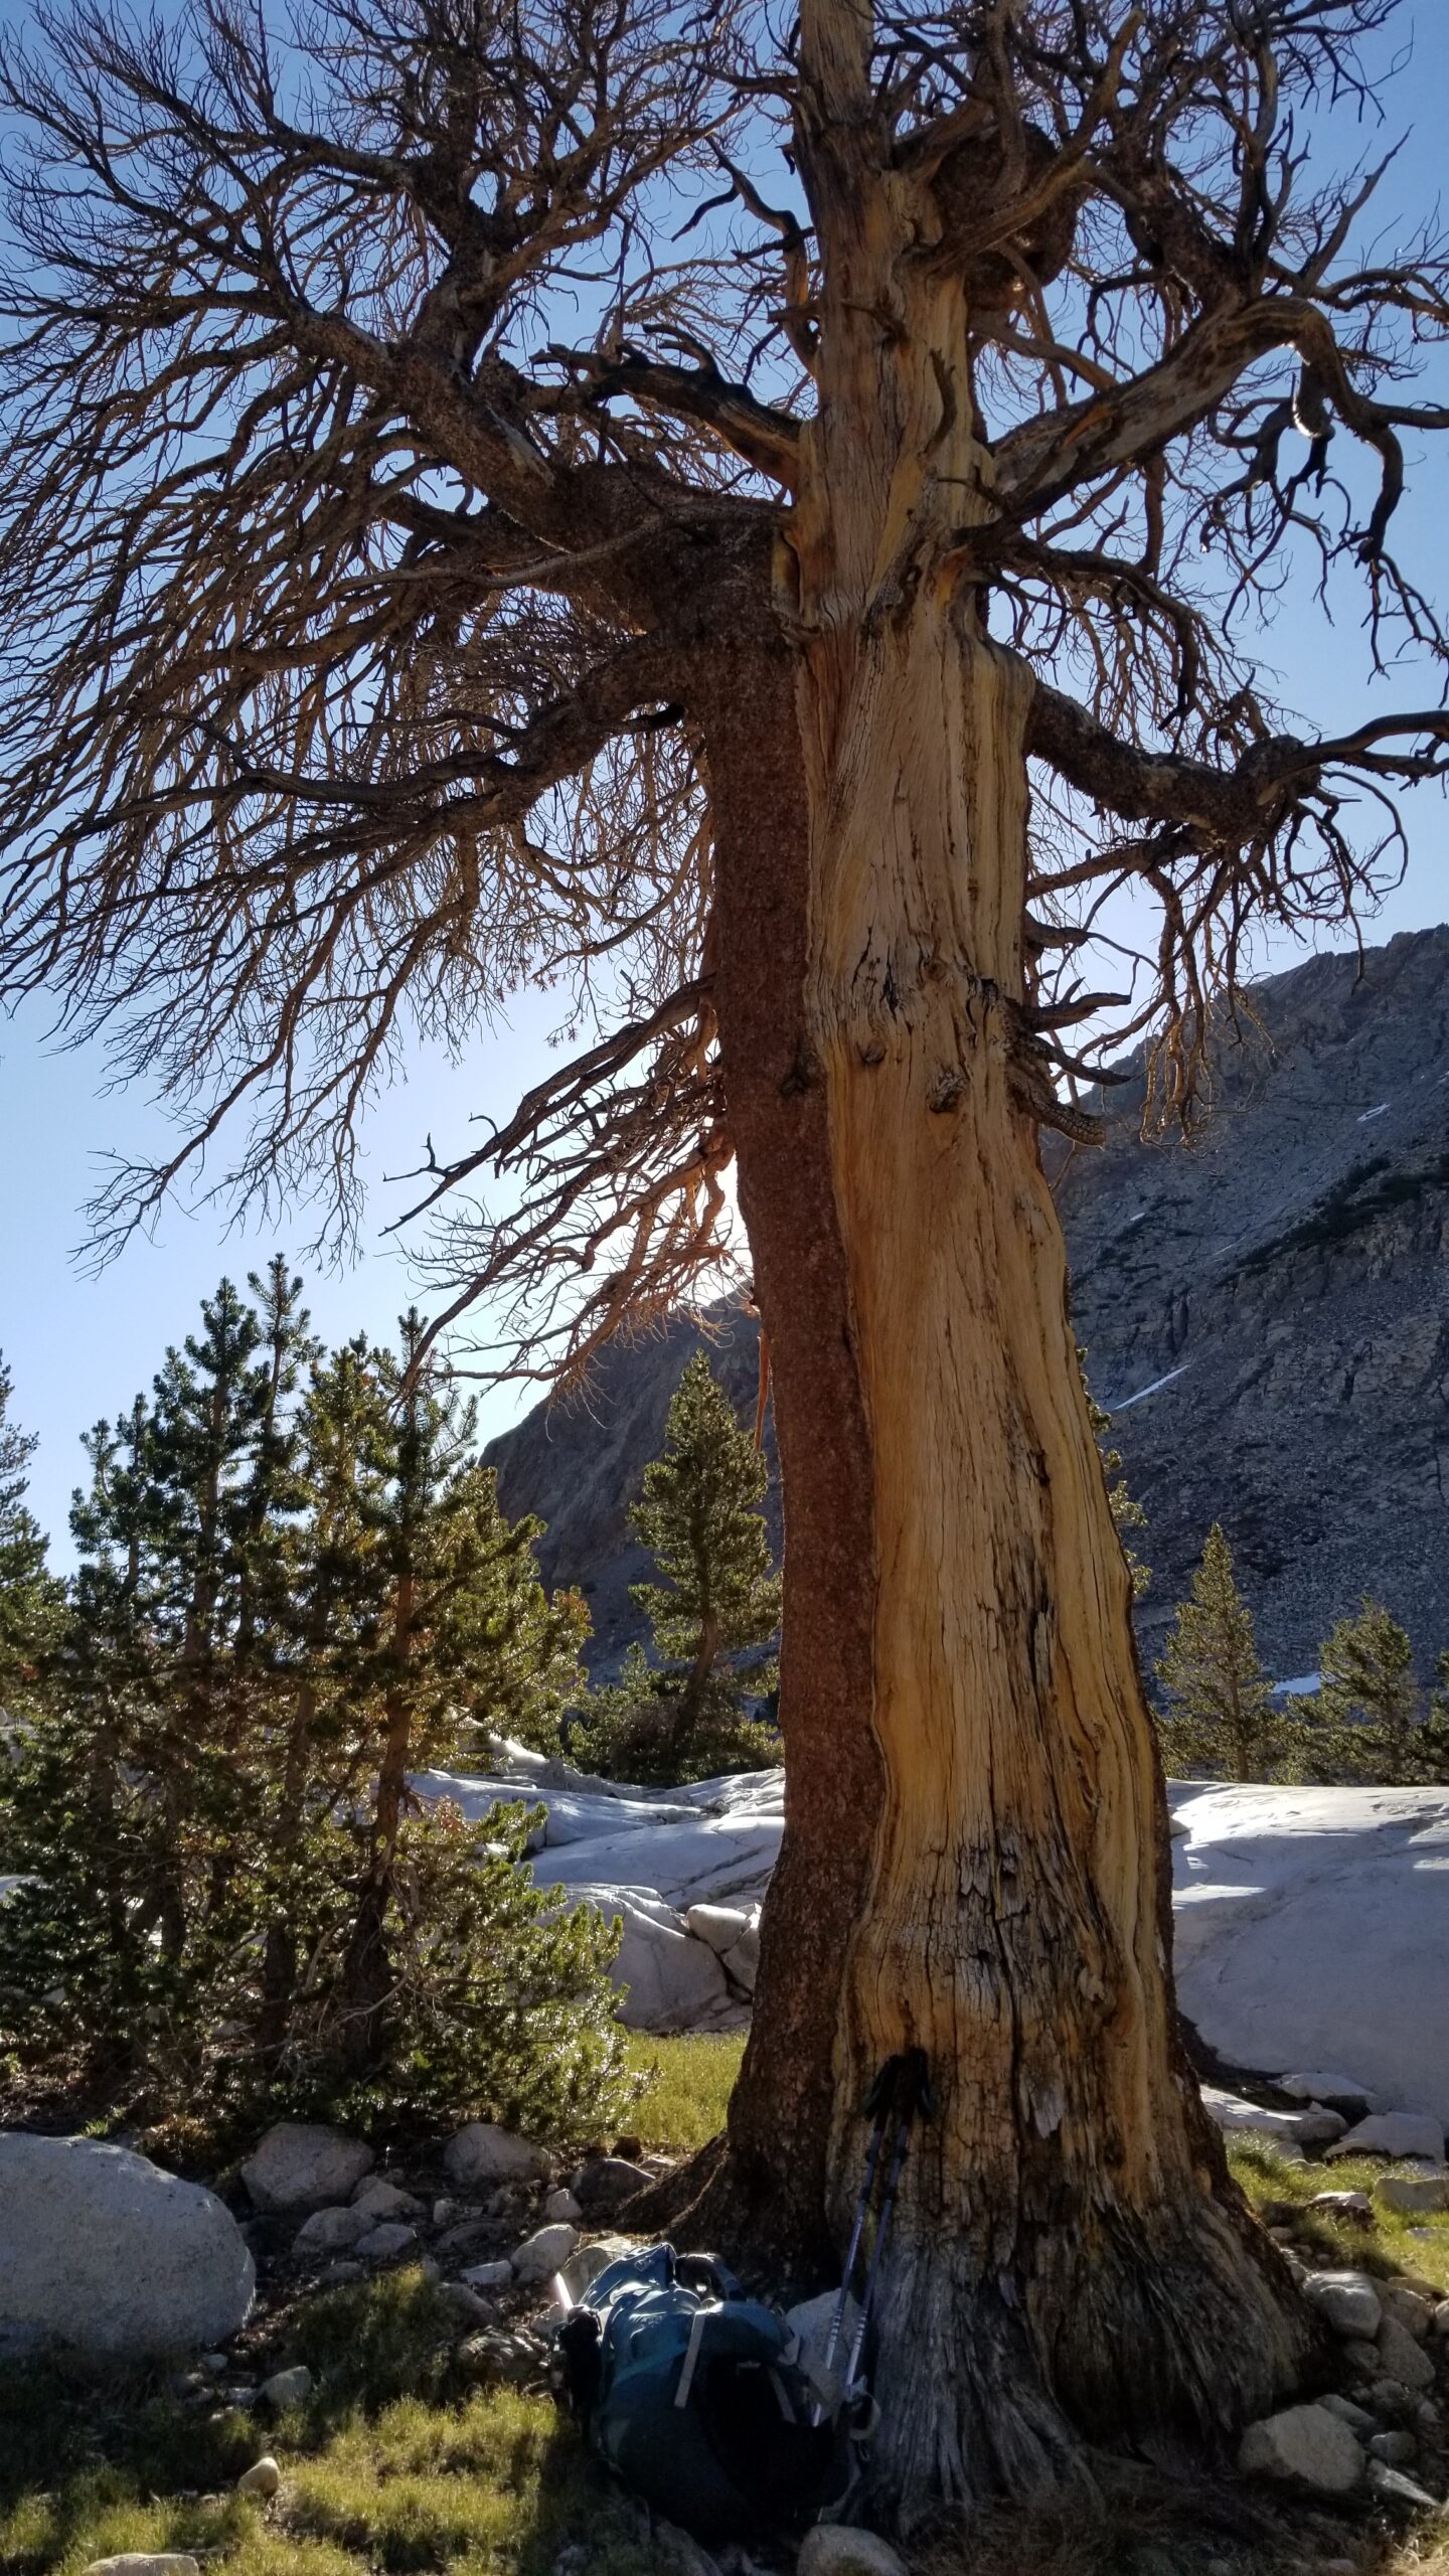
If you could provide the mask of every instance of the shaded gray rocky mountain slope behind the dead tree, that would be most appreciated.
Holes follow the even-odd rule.
[[[1315,1667],[1364,1589],[1428,1677],[1449,1646],[1449,927],[1256,987],[1191,1144],[1140,1139],[1140,1079],[1098,1108],[1106,1146],[1065,1159],[1057,1200],[1078,1337],[1150,1520],[1145,1654],[1222,1520],[1279,1677]],[[753,1324],[714,1321],[753,1406]],[[505,1510],[549,1522],[547,1579],[583,1584],[603,1667],[639,1633],[624,1515],[696,1342],[678,1321],[614,1350],[585,1401],[490,1448]]]

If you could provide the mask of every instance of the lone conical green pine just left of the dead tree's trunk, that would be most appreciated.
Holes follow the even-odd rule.
[[[688,1360],[670,1401],[665,1450],[645,1468],[629,1525],[663,1582],[632,1584],[660,1669],[634,1646],[616,1690],[593,1698],[575,1747],[603,1772],[704,1780],[779,1762],[776,1734],[745,1716],[750,1687],[773,1682],[763,1649],[779,1628],[781,1579],[763,1512],[768,1468],[737,1422],[709,1358]]]

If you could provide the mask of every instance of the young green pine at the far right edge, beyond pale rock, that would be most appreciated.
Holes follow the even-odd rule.
[[[1323,1641],[1318,1698],[1302,1716],[1312,1767],[1328,1780],[1413,1788],[1446,1777],[1446,1731],[1439,1713],[1426,1718],[1408,1628],[1369,1595]]]

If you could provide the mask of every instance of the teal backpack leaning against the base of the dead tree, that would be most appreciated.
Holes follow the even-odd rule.
[[[699,2540],[820,2512],[838,2437],[773,2308],[712,2254],[660,2244],[611,2262],[554,2336],[554,2383],[588,2442]]]

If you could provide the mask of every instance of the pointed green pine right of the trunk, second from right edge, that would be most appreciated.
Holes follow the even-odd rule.
[[[1168,1698],[1158,1726],[1171,1772],[1207,1770],[1227,1780],[1284,1775],[1297,1734],[1274,1705],[1253,1613],[1232,1579],[1232,1551],[1217,1520],[1191,1597],[1178,1602],[1158,1680]]]

